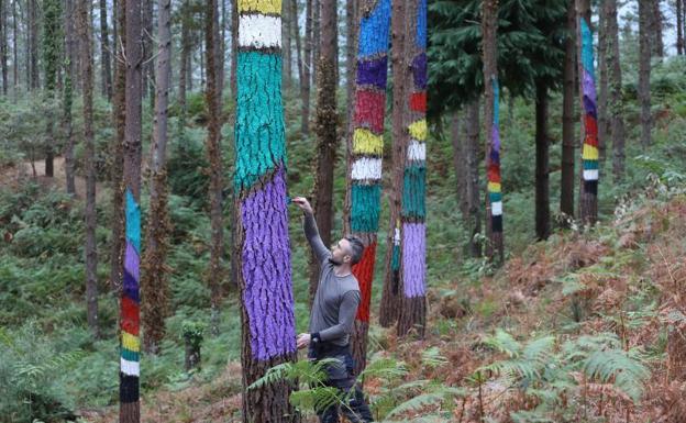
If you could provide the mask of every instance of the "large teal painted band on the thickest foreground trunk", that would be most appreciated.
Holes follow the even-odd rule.
[[[240,191],[286,165],[281,57],[239,52],[236,78],[241,107],[236,110],[233,183]]]

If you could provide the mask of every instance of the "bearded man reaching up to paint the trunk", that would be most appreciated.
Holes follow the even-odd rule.
[[[311,359],[335,358],[338,364],[327,366],[325,385],[345,394],[354,389],[352,396],[346,396],[352,397],[351,401],[342,405],[341,411],[353,423],[373,422],[369,407],[355,381],[348,344],[359,305],[359,286],[352,267],[362,259],[364,244],[355,236],[345,236],[329,251],[319,236],[309,201],[297,197],[292,202],[305,213],[305,236],[321,267],[310,332],[298,335],[298,349],[309,347],[308,357]],[[319,410],[318,415],[321,423],[338,423],[338,405]]]

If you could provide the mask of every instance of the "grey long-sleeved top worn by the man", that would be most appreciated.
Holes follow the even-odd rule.
[[[303,226],[305,236],[321,264],[310,315],[310,333],[319,332],[321,341],[340,346],[347,345],[359,305],[359,285],[352,274],[335,275],[334,266],[329,261],[331,252],[319,236],[312,214],[305,213]]]

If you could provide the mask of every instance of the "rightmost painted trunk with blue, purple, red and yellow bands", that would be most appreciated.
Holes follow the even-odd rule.
[[[582,97],[582,181],[579,219],[584,224],[598,220],[598,108],[594,70],[593,31],[588,0],[576,1],[578,22],[578,81]]]

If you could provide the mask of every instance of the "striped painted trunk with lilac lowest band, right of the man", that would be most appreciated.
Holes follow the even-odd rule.
[[[427,0],[409,2],[407,18],[403,49],[410,58],[407,69],[411,71],[411,81],[406,82],[410,89],[402,99],[409,138],[403,157],[398,335],[416,331],[423,338],[427,324]]]

